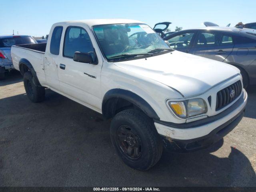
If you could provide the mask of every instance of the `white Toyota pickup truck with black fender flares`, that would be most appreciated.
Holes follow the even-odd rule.
[[[50,88],[112,118],[112,144],[138,170],[154,166],[163,147],[189,152],[220,140],[247,102],[236,67],[172,50],[137,20],[59,22],[47,44],[11,53],[32,102]]]

